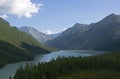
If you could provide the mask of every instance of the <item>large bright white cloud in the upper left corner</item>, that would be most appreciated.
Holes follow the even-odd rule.
[[[35,4],[30,0],[0,0],[0,14],[30,18],[38,13],[41,6],[41,3]]]

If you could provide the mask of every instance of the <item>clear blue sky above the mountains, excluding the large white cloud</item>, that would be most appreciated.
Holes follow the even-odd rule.
[[[31,18],[8,14],[11,25],[32,26],[41,32],[57,33],[75,23],[90,24],[105,16],[120,14],[120,0],[31,0],[43,6]],[[2,14],[2,13],[1,13]]]

